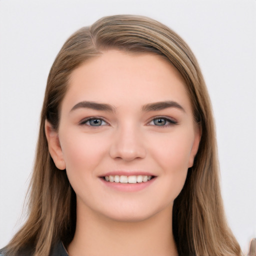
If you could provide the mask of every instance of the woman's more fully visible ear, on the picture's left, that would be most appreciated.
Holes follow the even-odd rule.
[[[55,129],[52,128],[52,125],[45,120],[45,135],[48,141],[48,150],[51,158],[53,159],[56,167],[58,169],[65,169],[66,164],[64,161],[62,149],[58,139],[58,133]]]

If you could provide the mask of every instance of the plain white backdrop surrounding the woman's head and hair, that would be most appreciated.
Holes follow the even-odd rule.
[[[216,120],[228,222],[245,251],[256,236],[255,0],[0,0],[0,247],[22,223],[50,66],[76,29],[140,14],[195,53]]]

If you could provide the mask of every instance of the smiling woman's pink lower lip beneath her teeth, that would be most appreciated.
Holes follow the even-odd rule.
[[[140,183],[110,182],[110,181],[105,181],[103,178],[100,178],[100,180],[103,182],[104,185],[106,185],[109,188],[112,188],[118,191],[123,191],[123,192],[136,192],[148,187],[150,184],[154,182],[155,178],[156,177],[146,182],[140,182]]]

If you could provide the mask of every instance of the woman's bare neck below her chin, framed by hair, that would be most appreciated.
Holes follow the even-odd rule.
[[[142,221],[116,221],[95,213],[77,210],[74,238],[69,256],[176,256],[172,234],[172,205]]]

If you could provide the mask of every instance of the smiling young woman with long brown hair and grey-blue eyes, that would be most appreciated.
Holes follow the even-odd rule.
[[[49,72],[29,215],[8,255],[241,255],[224,217],[210,100],[186,43],[104,17]]]

